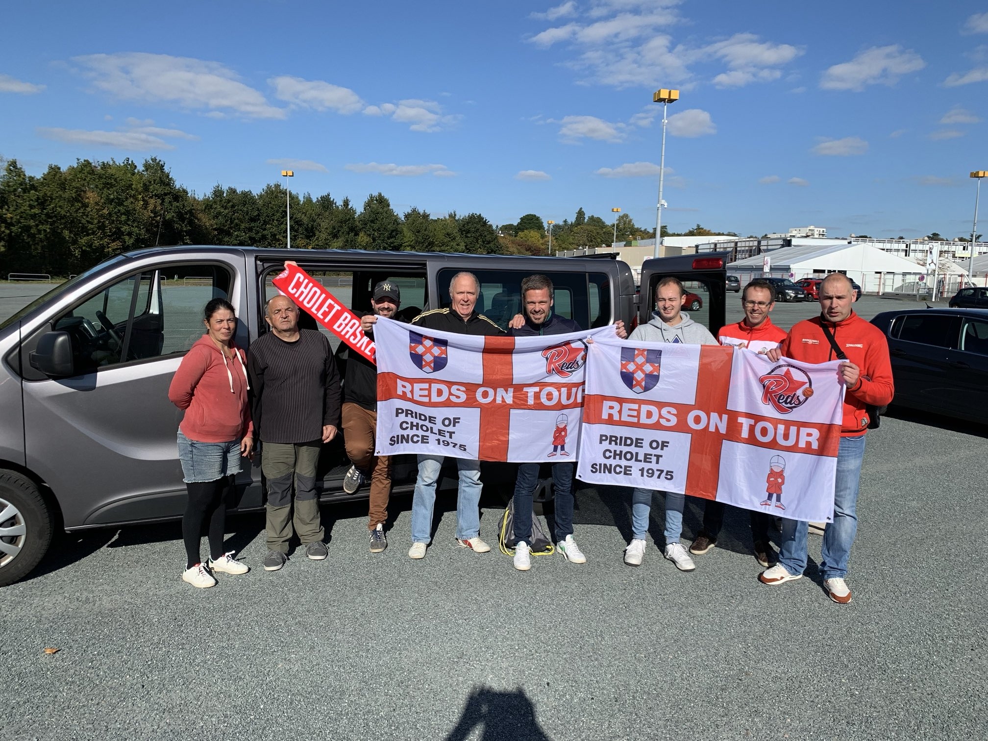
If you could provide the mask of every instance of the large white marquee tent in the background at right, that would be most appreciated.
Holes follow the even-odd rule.
[[[941,269],[927,268],[914,260],[892,255],[869,244],[847,241],[821,245],[797,244],[730,263],[728,273],[738,276],[743,286],[753,278],[824,278],[829,273],[846,273],[866,293],[916,292],[924,284],[933,285]],[[829,241],[829,240],[828,240]],[[764,272],[765,259],[770,262]],[[949,262],[949,261],[947,261]],[[951,263],[955,269],[957,266]],[[961,274],[965,274],[963,270]],[[922,279],[921,279],[922,277]]]

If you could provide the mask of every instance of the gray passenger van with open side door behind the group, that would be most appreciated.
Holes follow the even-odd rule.
[[[502,326],[521,311],[522,279],[534,273],[555,285],[554,310],[586,329],[630,325],[638,309],[632,273],[614,259],[187,246],[107,260],[0,323],[0,586],[28,574],[57,530],[182,516],[172,374],[216,296],[236,308],[235,339],[249,350],[286,260],[355,310],[370,308],[375,283],[395,282],[405,320],[449,305],[460,270],[477,275],[477,309]],[[331,342],[346,363],[346,346]],[[342,488],[347,467],[338,436],[320,460],[323,500],[354,498]],[[414,478],[412,456],[397,459],[394,491],[410,491]],[[263,508],[257,463],[237,483],[233,511]]]

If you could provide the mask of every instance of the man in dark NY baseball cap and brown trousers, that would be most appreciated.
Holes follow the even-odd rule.
[[[394,281],[381,281],[371,292],[371,311],[363,316],[393,319],[400,304],[401,290]],[[373,336],[372,324],[362,322],[362,327],[369,337]],[[343,440],[353,465],[343,479],[343,490],[354,494],[364,483],[371,482],[368,529],[371,553],[379,553],[387,547],[384,523],[391,496],[391,461],[386,455],[373,454],[377,431],[377,367],[360,353],[348,353],[343,380]]]

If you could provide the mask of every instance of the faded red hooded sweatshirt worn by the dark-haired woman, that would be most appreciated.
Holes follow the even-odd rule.
[[[230,343],[232,360],[203,335],[182,359],[168,387],[168,398],[185,418],[179,429],[199,443],[228,443],[253,435],[247,403],[247,366],[244,353]]]

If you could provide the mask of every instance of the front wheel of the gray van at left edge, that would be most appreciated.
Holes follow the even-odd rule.
[[[34,482],[0,470],[0,587],[27,576],[51,543],[51,514]]]

